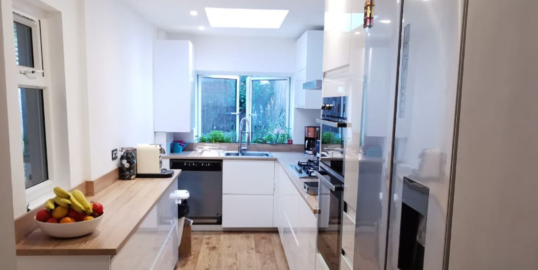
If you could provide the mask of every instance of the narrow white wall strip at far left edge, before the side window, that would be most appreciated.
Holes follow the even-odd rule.
[[[12,33],[13,17],[11,15],[11,1],[2,0],[0,2],[0,170],[2,171],[2,181],[0,181],[0,205],[2,205],[2,215],[0,215],[0,261],[2,269],[16,269],[15,255],[15,229],[13,224],[12,208],[12,187],[11,187],[11,155],[10,136],[8,127],[8,95],[7,90],[16,86],[15,80],[11,76],[12,68],[9,62],[15,62],[15,41]]]

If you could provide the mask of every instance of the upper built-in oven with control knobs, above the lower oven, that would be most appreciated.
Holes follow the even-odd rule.
[[[320,167],[344,181],[344,144],[348,97],[325,97],[321,106]]]

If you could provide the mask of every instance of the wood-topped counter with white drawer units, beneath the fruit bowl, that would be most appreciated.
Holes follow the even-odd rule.
[[[169,195],[178,188],[179,174],[114,181],[88,196],[104,205],[97,230],[60,239],[37,229],[17,243],[18,269],[174,269],[182,224],[178,230],[177,205]]]

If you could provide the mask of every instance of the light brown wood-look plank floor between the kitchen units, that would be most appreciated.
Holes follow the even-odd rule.
[[[180,257],[185,270],[289,270],[278,232],[192,232],[192,255]]]

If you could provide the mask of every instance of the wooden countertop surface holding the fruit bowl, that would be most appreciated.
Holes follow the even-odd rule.
[[[104,205],[103,221],[87,236],[59,239],[36,230],[17,243],[17,255],[116,255],[164,191],[181,174],[166,179],[116,181],[95,196]]]

